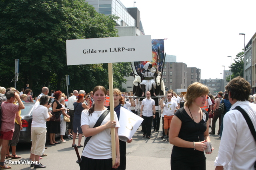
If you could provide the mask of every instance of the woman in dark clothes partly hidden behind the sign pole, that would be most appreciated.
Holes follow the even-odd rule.
[[[114,110],[116,112],[116,115],[118,117],[118,121],[120,118],[120,114],[124,114],[120,112],[120,108],[122,107],[122,104],[124,104],[124,98],[122,97],[122,93],[118,88],[113,89],[114,92]],[[109,108],[109,106],[108,106]],[[131,143],[132,138],[130,140],[127,140],[126,142]],[[117,168],[117,170],[125,170],[126,169],[126,142],[119,140],[119,150],[120,150],[120,166]]]

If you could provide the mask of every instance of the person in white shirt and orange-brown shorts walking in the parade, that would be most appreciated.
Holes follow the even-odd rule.
[[[170,124],[172,121],[172,118],[174,116],[174,113],[176,110],[179,109],[178,104],[176,101],[172,100],[172,94],[167,93],[167,103],[164,103],[164,98],[160,100],[159,105],[162,108],[165,108],[164,113],[164,141],[168,139],[168,130],[170,128]]]

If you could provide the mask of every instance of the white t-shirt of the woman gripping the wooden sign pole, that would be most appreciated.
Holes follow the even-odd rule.
[[[102,110],[100,115],[103,114],[105,112],[105,110]],[[93,126],[97,122],[98,118],[99,117],[98,117],[97,113],[93,112],[89,116],[88,109],[83,110],[82,116],[81,116],[81,127],[83,125],[89,125],[90,128],[93,128]],[[110,120],[110,113],[106,116],[106,118],[103,120],[101,125],[106,124],[109,120]],[[118,122],[116,112],[114,112],[114,120],[116,121],[116,128],[119,128],[120,124]],[[111,129],[108,128],[98,134],[93,135],[92,138],[90,138],[90,140],[86,144],[84,151],[82,153],[82,156],[85,156],[87,158],[92,158],[92,159],[110,159],[110,158],[112,158],[110,132],[111,132]]]

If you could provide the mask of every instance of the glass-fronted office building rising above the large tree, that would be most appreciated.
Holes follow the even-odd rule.
[[[119,0],[86,0],[86,2],[101,14],[119,16],[120,18],[116,21],[117,26],[135,26],[135,19]]]

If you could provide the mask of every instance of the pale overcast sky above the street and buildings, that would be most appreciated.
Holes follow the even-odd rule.
[[[201,69],[201,79],[222,78],[256,33],[256,0],[120,0],[137,7],[146,35],[163,39],[176,62]]]

